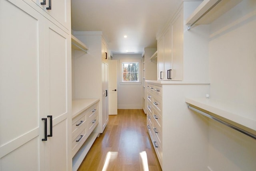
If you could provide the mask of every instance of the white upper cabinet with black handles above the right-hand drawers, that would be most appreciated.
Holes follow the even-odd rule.
[[[182,10],[158,37],[158,80],[183,79],[183,20]]]

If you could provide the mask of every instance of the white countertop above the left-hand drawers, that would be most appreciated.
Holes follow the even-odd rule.
[[[80,98],[72,100],[72,118],[100,101],[98,98]]]

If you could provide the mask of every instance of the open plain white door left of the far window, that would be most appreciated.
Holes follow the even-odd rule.
[[[108,114],[117,115],[117,60],[108,61]]]

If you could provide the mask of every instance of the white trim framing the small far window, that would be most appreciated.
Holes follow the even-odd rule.
[[[123,82],[122,81],[122,63],[132,63],[132,62],[138,62],[139,63],[139,79],[138,82]],[[141,85],[141,59],[120,59],[120,85]]]

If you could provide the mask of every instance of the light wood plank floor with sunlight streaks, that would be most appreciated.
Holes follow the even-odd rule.
[[[143,110],[118,109],[118,115],[110,115],[78,171],[162,171]]]

